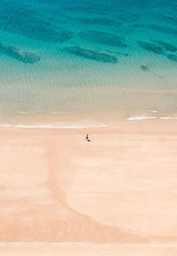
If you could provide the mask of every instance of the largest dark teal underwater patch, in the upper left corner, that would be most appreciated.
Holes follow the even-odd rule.
[[[41,19],[38,12],[20,2],[19,5],[7,3],[0,8],[0,28],[14,34],[51,43],[62,43],[72,38],[70,31],[52,27],[50,22]]]

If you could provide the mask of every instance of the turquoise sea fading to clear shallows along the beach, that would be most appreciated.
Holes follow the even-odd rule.
[[[177,116],[176,13],[173,0],[1,0],[0,122]]]

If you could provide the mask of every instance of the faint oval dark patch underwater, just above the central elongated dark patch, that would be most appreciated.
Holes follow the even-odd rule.
[[[117,35],[112,35],[108,33],[104,33],[101,31],[95,31],[95,30],[89,30],[85,32],[81,32],[80,36],[93,43],[102,43],[109,46],[114,47],[127,47],[127,43],[123,41],[122,38],[120,38]]]

